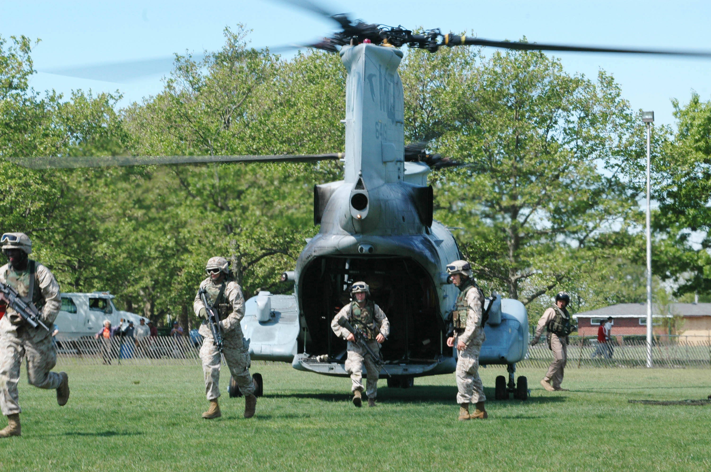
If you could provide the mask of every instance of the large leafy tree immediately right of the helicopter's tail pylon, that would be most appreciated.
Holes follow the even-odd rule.
[[[637,148],[611,76],[569,75],[537,52],[453,48],[410,51],[402,77],[409,137],[468,164],[432,182],[436,217],[460,228],[480,280],[529,304],[620,260],[610,242],[634,226],[636,190],[603,168]]]

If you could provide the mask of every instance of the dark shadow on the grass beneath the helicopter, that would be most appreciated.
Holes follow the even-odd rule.
[[[423,387],[412,387],[412,388],[379,388],[378,389],[378,402],[387,402],[390,404],[398,403],[437,403],[439,405],[451,405],[455,402],[456,398],[456,386],[454,385],[427,385]],[[484,388],[484,395],[488,399],[494,398],[493,388]],[[323,402],[346,402],[351,400],[350,393],[282,393],[282,394],[272,394],[264,395],[264,397],[269,398],[304,398],[310,400],[320,400]],[[525,403],[551,403],[551,402],[563,402],[565,401],[565,396],[545,396],[545,397],[528,397],[528,400],[500,400],[496,401],[497,406],[516,406]]]

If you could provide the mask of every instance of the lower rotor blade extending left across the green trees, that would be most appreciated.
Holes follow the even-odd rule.
[[[343,153],[308,155],[165,155],[109,156],[105,158],[6,158],[28,169],[101,168],[123,165],[163,165],[199,163],[303,163],[343,158]]]

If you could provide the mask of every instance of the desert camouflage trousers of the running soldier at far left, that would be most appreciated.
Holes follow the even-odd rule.
[[[9,333],[0,336],[0,409],[5,416],[22,412],[17,394],[22,358],[25,358],[30,385],[52,389],[58,388],[62,381],[58,373],[50,372],[57,363],[52,336],[32,340],[22,330],[18,329],[18,336]]]

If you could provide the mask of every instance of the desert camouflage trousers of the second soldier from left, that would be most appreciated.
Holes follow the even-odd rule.
[[[245,351],[242,332],[233,333],[223,339],[223,356],[232,377],[240,387],[243,395],[255,393],[255,384],[250,375],[250,353]],[[205,336],[203,347],[200,348],[200,358],[203,361],[205,374],[205,395],[208,400],[220,397],[220,366],[222,357],[217,346],[213,344],[213,336]]]

